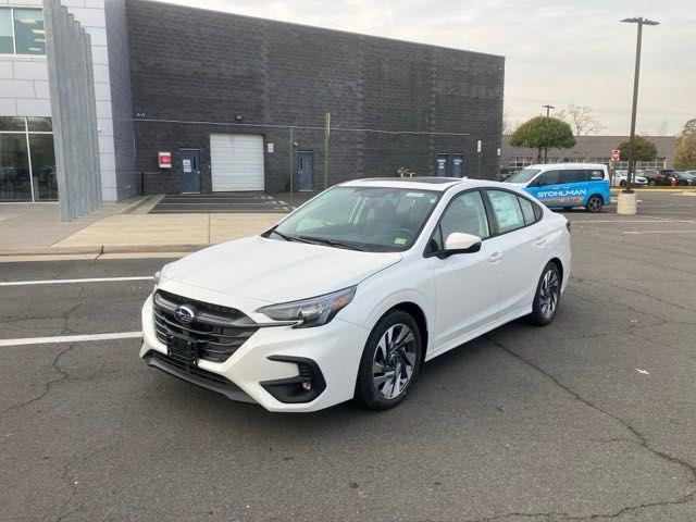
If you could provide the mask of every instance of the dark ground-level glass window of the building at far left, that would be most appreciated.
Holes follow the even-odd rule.
[[[0,116],[0,201],[55,199],[51,119]]]

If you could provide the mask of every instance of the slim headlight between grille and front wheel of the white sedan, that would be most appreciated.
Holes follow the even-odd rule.
[[[356,295],[356,287],[302,299],[301,301],[271,304],[257,310],[275,321],[299,321],[296,328],[310,328],[328,323]]]

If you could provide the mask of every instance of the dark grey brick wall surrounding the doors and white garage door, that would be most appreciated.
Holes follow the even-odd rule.
[[[322,127],[327,111],[330,184],[394,175],[399,166],[433,175],[437,153],[463,153],[465,174],[476,176],[478,139],[481,176],[497,176],[502,57],[159,2],[126,4],[136,167],[148,192],[179,191],[179,148],[201,149],[201,189],[210,190],[211,133],[261,134],[273,142],[265,188],[285,190],[287,126]],[[298,128],[296,141],[313,150],[314,188],[323,188],[323,132]],[[173,152],[171,172],[158,169],[158,150]]]

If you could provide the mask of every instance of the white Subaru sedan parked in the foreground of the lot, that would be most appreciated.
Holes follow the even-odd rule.
[[[344,183],[164,266],[140,357],[272,411],[386,409],[427,360],[517,318],[550,323],[570,269],[566,217],[509,184]]]

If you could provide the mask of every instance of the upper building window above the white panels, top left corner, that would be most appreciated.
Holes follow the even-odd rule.
[[[46,54],[44,11],[0,9],[0,53]]]

